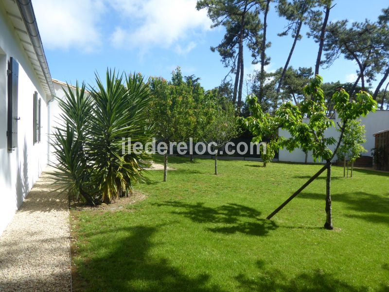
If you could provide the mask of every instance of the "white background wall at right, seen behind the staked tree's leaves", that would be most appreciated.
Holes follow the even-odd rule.
[[[367,153],[364,153],[363,155],[371,156],[371,149],[374,148],[374,137],[373,134],[389,129],[389,111],[388,110],[377,110],[375,112],[369,113],[366,117],[361,117],[361,125],[365,125],[366,130],[366,143],[363,144],[366,150],[368,150]],[[307,121],[307,120],[305,120]],[[335,124],[336,128],[338,128],[337,123],[340,124],[340,120],[336,117]],[[337,131],[336,128],[328,128],[324,136],[325,137],[334,137],[336,141],[339,139],[339,131]],[[279,129],[279,135],[283,136],[285,138],[290,138],[290,133],[287,130]],[[334,151],[336,145],[330,146],[330,149]],[[286,149],[280,149],[279,152],[279,161],[283,162],[298,162],[298,163],[304,163],[305,162],[305,153],[301,149],[296,149],[292,152],[289,152]],[[313,163],[313,157],[312,152],[308,152],[308,163]],[[324,163],[324,162],[321,162]]]

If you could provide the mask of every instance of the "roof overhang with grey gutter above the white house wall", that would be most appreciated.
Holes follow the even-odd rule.
[[[20,39],[22,49],[31,61],[40,84],[48,96],[55,96],[52,77],[43,50],[31,0],[4,0],[5,12]]]

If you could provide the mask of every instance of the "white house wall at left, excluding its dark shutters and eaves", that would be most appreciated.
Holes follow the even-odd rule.
[[[0,2],[0,234],[47,164],[47,97]],[[19,63],[18,148],[7,149],[8,61]],[[41,142],[33,145],[33,94],[41,98]]]

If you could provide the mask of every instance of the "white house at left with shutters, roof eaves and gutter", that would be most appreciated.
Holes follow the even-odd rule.
[[[0,234],[48,161],[54,88],[29,0],[0,0]]]

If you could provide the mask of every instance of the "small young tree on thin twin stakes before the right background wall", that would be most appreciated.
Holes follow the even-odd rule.
[[[338,129],[340,131],[340,129]],[[366,142],[366,130],[365,125],[361,125],[360,120],[350,121],[344,129],[343,141],[338,150],[338,158],[343,157],[343,177],[346,177],[346,160],[351,162],[351,177],[353,177],[354,162],[357,160],[361,153],[367,152],[364,146],[361,144]],[[347,165],[347,176],[349,173],[349,166]]]

